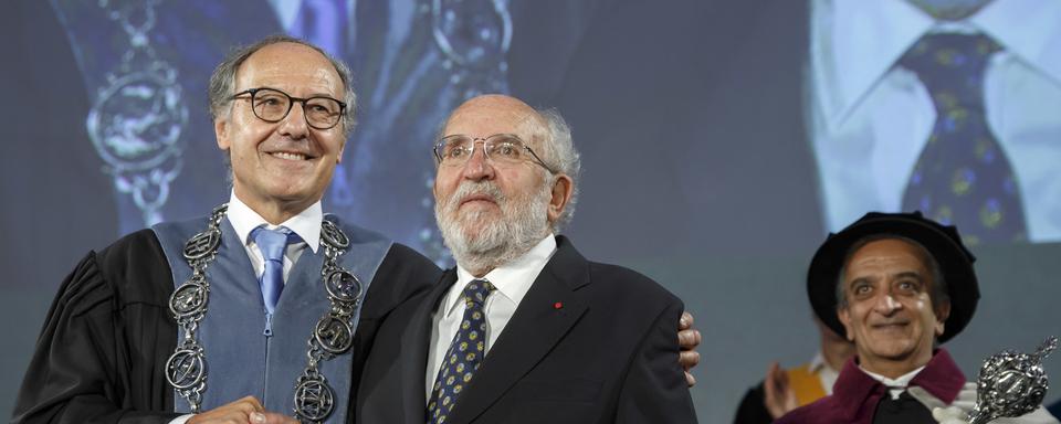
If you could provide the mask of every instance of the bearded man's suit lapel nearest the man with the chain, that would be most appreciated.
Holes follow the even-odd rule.
[[[456,272],[447,271],[442,283],[435,284],[413,312],[409,327],[401,336],[401,403],[406,424],[423,424],[428,400],[424,396],[424,379],[428,364],[428,349],[431,343],[431,314],[453,282]]]

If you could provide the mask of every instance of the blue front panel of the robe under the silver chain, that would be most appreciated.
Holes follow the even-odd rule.
[[[350,239],[350,246],[338,263],[360,279],[364,300],[391,242],[379,234],[344,224],[335,216],[329,215],[328,220]],[[172,269],[175,288],[191,276],[191,267],[182,255],[185,243],[206,229],[206,218],[162,223],[151,229]],[[306,367],[306,342],[317,320],[329,307],[321,279],[324,248],[322,246],[316,253],[304,250],[291,268],[273,315],[272,336],[265,337],[265,306],[244,244],[228,219],[221,222],[221,234],[217,258],[207,267],[210,298],[199,328],[208,372],[202,411],[253,395],[266,410],[293,415],[295,380]],[[354,315],[354,328],[357,328],[359,316],[360,308]],[[180,340],[183,332],[178,331],[177,337]],[[326,423],[346,422],[351,367],[349,352],[319,365],[335,391],[335,411]],[[190,411],[183,398],[176,392],[174,396],[176,412]]]

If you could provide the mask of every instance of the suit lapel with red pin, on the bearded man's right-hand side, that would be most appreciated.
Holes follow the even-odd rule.
[[[556,254],[516,307],[448,422],[471,422],[540,362],[586,311],[574,292],[587,284],[588,263],[558,236]]]

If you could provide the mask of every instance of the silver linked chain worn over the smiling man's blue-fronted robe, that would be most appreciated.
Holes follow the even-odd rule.
[[[183,256],[191,266],[191,277],[169,298],[169,309],[183,338],[166,361],[166,380],[188,401],[193,413],[200,412],[202,393],[207,390],[207,359],[198,337],[199,322],[207,314],[210,297],[210,282],[206,272],[221,246],[221,219],[227,209],[227,204],[214,209],[207,230],[185,244]],[[319,423],[335,409],[335,391],[318,365],[347,352],[354,344],[353,319],[361,299],[361,282],[337,262],[349,247],[349,239],[333,222],[324,220],[321,222],[321,241],[325,256],[321,278],[329,308],[313,328],[306,351],[306,368],[295,380],[294,413],[306,423]]]

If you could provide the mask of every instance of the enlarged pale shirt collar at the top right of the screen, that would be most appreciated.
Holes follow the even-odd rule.
[[[906,1],[818,0],[810,56],[819,107],[837,128],[903,53],[929,31],[981,31],[1061,83],[1061,2],[995,1],[962,22],[936,22]]]

